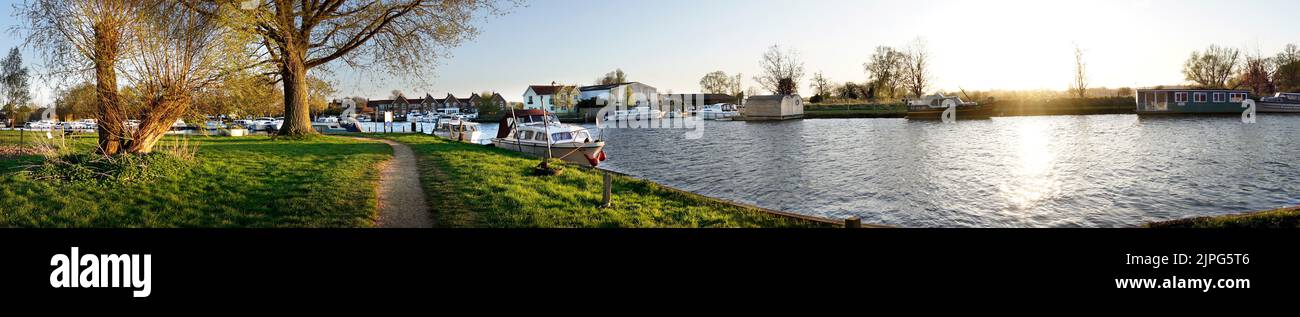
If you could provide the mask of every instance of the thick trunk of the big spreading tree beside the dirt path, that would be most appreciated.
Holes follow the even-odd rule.
[[[280,66],[285,82],[285,125],[280,135],[312,135],[311,107],[307,104],[307,49],[285,49],[285,64]]]

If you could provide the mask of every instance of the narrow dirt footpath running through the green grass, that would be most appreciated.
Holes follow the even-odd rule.
[[[384,139],[393,147],[393,160],[380,173],[380,218],[376,227],[433,227],[433,214],[424,200],[420,168],[411,147]]]

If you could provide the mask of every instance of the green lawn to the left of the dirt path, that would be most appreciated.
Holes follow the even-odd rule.
[[[94,140],[72,143],[91,151]],[[338,136],[188,140],[194,166],[148,182],[34,179],[23,166],[40,164],[39,156],[0,157],[0,226],[368,227],[377,213],[376,166],[391,157],[386,144]]]

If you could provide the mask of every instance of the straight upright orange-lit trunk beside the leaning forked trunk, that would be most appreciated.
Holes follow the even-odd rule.
[[[110,47],[110,45],[105,45]],[[110,56],[104,56],[110,55]],[[117,155],[122,149],[122,136],[126,135],[126,116],[122,113],[122,99],[117,92],[116,52],[104,52],[95,61],[95,91],[99,92],[95,122],[99,127],[100,155]]]

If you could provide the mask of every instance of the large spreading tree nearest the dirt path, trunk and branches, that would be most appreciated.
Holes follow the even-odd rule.
[[[260,39],[251,51],[283,84],[282,135],[315,134],[308,71],[335,61],[421,77],[452,47],[472,39],[480,12],[519,0],[186,0],[216,3],[207,14],[233,12],[230,27]]]

